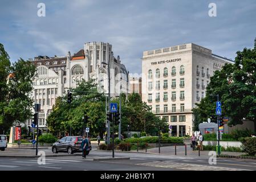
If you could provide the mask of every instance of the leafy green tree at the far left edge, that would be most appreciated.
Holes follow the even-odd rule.
[[[14,122],[24,123],[32,116],[33,100],[29,94],[35,70],[30,61],[23,59],[11,64],[0,44],[0,133],[9,130]]]

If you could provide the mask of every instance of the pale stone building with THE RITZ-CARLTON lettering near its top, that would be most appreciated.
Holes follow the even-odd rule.
[[[192,109],[225,63],[234,62],[193,43],[144,51],[142,99],[172,126],[173,136],[192,135]]]

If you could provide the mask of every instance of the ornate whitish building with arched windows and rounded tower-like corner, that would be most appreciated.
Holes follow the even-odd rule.
[[[32,78],[34,90],[30,97],[41,106],[39,127],[46,130],[46,118],[56,98],[78,86],[78,81],[93,78],[98,83],[98,92],[108,93],[108,66],[111,97],[119,96],[120,92],[128,93],[128,72],[121,64],[120,57],[113,56],[112,45],[109,43],[86,43],[73,56],[68,52],[64,57],[38,56],[30,61],[36,65],[36,74]],[[29,119],[27,126],[31,122],[32,119]]]

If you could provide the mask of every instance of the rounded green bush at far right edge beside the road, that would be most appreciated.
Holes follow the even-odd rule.
[[[251,156],[256,155],[256,137],[242,138],[242,150]]]

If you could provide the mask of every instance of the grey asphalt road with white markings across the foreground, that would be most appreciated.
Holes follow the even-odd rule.
[[[50,149],[45,149],[46,153]],[[36,158],[1,158],[0,170],[79,170],[79,171],[243,171],[256,170],[256,160],[220,159],[210,165],[206,156],[175,156],[164,154],[140,154],[115,152],[115,157],[130,157],[130,160],[93,160],[112,158],[112,152],[92,150],[87,159],[81,155],[47,157],[46,164],[38,164]]]

